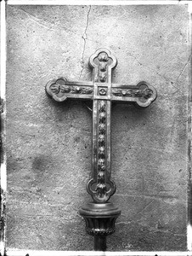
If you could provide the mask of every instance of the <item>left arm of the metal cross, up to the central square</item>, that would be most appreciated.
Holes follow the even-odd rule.
[[[56,102],[64,102],[71,99],[93,99],[93,82],[68,81],[65,78],[54,79],[48,82],[45,87],[48,96]]]

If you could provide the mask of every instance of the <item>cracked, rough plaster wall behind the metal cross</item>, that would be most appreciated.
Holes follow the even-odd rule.
[[[187,6],[8,6],[7,33],[8,247],[93,250],[78,215],[91,201],[92,113],[44,86],[91,80],[88,57],[105,47],[113,82],[158,91],[150,108],[112,108],[110,201],[122,212],[108,250],[186,250]]]

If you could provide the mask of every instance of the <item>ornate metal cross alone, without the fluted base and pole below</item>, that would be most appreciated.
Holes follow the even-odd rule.
[[[146,82],[137,85],[112,84],[111,73],[117,61],[108,49],[98,49],[89,59],[93,81],[54,79],[46,85],[48,96],[57,102],[66,99],[93,100],[93,172],[88,193],[93,201],[104,203],[116,191],[110,179],[110,108],[111,102],[133,102],[141,108],[155,101],[156,90]]]

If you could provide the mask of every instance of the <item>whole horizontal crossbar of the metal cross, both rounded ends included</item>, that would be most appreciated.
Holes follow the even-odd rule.
[[[99,87],[100,85],[111,86],[110,96],[105,96],[107,100],[111,102],[134,102],[142,108],[150,106],[157,96],[155,88],[144,81],[137,85],[128,85],[93,83],[93,81],[68,81],[65,78],[49,81],[46,85],[46,92],[56,102],[64,102],[67,98],[93,100],[100,97],[94,96],[94,86]]]

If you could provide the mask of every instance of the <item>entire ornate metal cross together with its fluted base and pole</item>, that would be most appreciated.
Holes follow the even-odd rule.
[[[91,55],[93,81],[71,82],[65,78],[49,81],[46,92],[57,102],[66,99],[93,101],[93,171],[88,181],[88,193],[93,202],[81,207],[86,230],[94,236],[94,249],[105,251],[106,236],[115,231],[116,218],[121,210],[108,202],[116,191],[110,179],[110,115],[111,102],[134,103],[141,108],[155,101],[156,90],[146,82],[137,85],[112,84],[111,72],[117,61],[108,49],[98,49]]]

